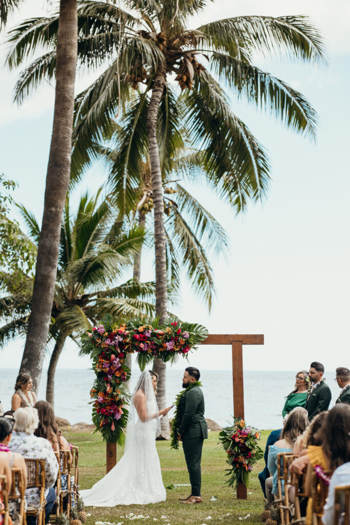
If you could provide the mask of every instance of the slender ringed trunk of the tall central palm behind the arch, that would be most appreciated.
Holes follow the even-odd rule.
[[[157,144],[158,109],[165,87],[165,67],[161,66],[154,79],[150,106],[147,113],[146,130],[149,139],[151,162],[152,190],[154,204],[154,243],[155,243],[155,310],[163,323],[167,317],[167,282],[166,282],[166,252],[164,230],[164,204],[161,163]],[[166,364],[159,358],[154,359],[153,370],[158,374],[157,403],[159,408],[166,406]],[[161,437],[169,438],[168,417],[162,417]]]

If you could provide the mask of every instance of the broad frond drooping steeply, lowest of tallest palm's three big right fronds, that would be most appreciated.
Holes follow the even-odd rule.
[[[224,92],[204,71],[185,96],[193,143],[204,152],[204,169],[237,211],[248,198],[261,199],[269,182],[269,161],[246,125],[232,113]]]

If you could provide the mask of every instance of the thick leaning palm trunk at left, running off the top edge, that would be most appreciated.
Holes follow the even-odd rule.
[[[33,299],[20,372],[38,391],[49,331],[72,147],[74,84],[78,49],[77,0],[61,0],[56,58],[54,123],[46,175],[43,224],[38,245]]]

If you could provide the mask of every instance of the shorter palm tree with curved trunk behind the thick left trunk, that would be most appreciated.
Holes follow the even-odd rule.
[[[130,271],[137,250],[144,242],[144,230],[135,226],[126,230],[115,221],[109,199],[101,204],[101,189],[93,198],[83,195],[78,211],[72,216],[67,197],[61,225],[60,255],[51,304],[49,340],[55,342],[51,353],[46,400],[54,406],[56,366],[67,338],[77,336],[91,324],[111,313],[116,318],[152,316],[154,283],[130,279],[118,286],[115,281]],[[36,245],[40,238],[38,223],[24,206],[22,216]],[[2,275],[0,286],[7,292],[0,299],[0,344],[26,333],[33,296],[33,278],[18,281],[15,275]],[[17,285],[16,285],[17,283]],[[109,288],[110,285],[112,288]]]

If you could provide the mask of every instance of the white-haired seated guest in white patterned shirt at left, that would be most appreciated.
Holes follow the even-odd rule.
[[[45,523],[47,523],[50,510],[56,500],[54,485],[58,474],[57,459],[48,440],[33,434],[39,423],[36,408],[18,408],[14,419],[14,431],[9,442],[10,450],[22,454],[24,458],[45,460]],[[39,505],[39,489],[27,489],[25,497],[28,506]],[[34,525],[35,522],[35,518],[27,518],[27,525]]]

